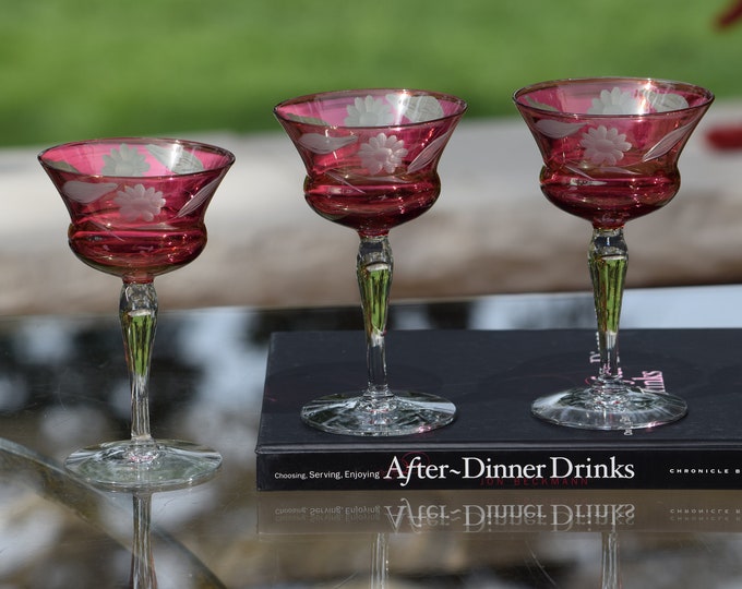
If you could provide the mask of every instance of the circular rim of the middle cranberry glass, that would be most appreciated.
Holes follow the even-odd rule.
[[[290,105],[300,105],[302,103],[309,103],[309,101],[318,101],[318,98],[343,98],[347,96],[357,96],[357,97],[364,97],[363,93],[367,95],[369,93],[373,94],[380,94],[380,93],[396,93],[396,94],[409,94],[410,96],[432,96],[433,98],[436,99],[445,99],[450,103],[454,103],[458,105],[460,108],[456,112],[452,112],[451,115],[444,115],[443,117],[438,117],[435,119],[429,119],[427,121],[419,121],[419,122],[404,122],[399,124],[382,124],[382,125],[371,125],[371,127],[366,127],[366,125],[352,125],[348,127],[345,124],[319,124],[319,123],[313,123],[313,122],[304,122],[301,121],[302,124],[307,124],[308,127],[316,127],[318,129],[398,129],[398,128],[405,128],[405,127],[420,127],[423,124],[430,124],[432,122],[438,122],[438,121],[445,121],[447,119],[454,119],[456,117],[462,117],[467,109],[469,108],[469,104],[464,100],[464,98],[459,98],[458,96],[455,96],[453,94],[447,94],[445,92],[436,92],[436,91],[427,91],[427,89],[419,89],[419,88],[387,88],[387,87],[376,87],[376,88],[355,88],[355,89],[340,89],[340,91],[326,91],[326,92],[316,92],[312,94],[303,94],[301,96],[296,96],[294,98],[287,98],[286,100],[282,100],[278,103],[275,107],[273,107],[273,113],[275,115],[276,118],[280,119],[282,121],[286,121],[288,123],[296,123],[295,119],[291,119],[289,117],[286,117],[279,112],[279,109],[283,107],[287,107]]]

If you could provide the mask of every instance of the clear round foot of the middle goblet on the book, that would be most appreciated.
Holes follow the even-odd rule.
[[[358,394],[328,395],[301,409],[304,423],[345,435],[410,435],[447,425],[456,417],[450,400],[427,393],[394,390],[382,399]]]

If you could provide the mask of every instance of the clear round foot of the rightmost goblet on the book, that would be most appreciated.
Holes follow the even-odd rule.
[[[573,388],[536,399],[531,412],[546,421],[583,430],[636,430],[677,421],[687,412],[685,401],[667,393],[637,387],[605,392]]]

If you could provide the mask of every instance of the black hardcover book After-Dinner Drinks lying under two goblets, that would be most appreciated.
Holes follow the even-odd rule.
[[[601,432],[530,414],[535,398],[596,373],[589,330],[393,332],[391,385],[446,397],[457,418],[411,436],[356,437],[309,428],[299,411],[315,397],[363,388],[363,335],[277,333],[258,489],[742,489],[741,342],[737,329],[623,330],[624,376],[684,398],[689,413],[655,429]]]

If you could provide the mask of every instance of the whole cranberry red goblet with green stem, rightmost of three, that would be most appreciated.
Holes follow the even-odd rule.
[[[678,82],[599,77],[536,84],[517,91],[514,100],[543,157],[541,191],[559,208],[593,224],[588,266],[599,373],[584,387],[537,399],[532,412],[590,430],[648,428],[682,418],[685,401],[645,390],[621,374],[623,227],[675,195],[678,158],[713,94]]]

